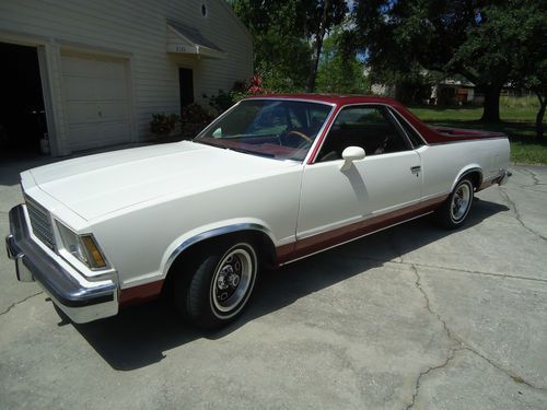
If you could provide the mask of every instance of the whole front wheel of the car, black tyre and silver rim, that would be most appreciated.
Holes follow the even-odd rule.
[[[193,272],[179,272],[183,274],[175,282],[175,303],[186,319],[203,329],[218,329],[235,320],[247,305],[258,276],[258,257],[252,243],[208,246],[195,256],[190,267]]]

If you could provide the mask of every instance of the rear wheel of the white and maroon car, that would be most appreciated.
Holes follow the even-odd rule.
[[[470,179],[461,179],[449,198],[435,211],[439,223],[449,230],[462,226],[472,209],[473,197],[474,188]]]

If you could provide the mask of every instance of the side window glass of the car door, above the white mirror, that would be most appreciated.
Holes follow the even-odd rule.
[[[381,106],[341,109],[319,151],[319,162],[341,159],[348,147],[360,147],[368,156],[411,150],[408,140]]]

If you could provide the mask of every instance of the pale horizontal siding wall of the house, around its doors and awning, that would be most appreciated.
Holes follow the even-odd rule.
[[[201,5],[208,9],[201,14]],[[226,52],[223,59],[166,52],[166,20],[198,28]],[[125,60],[131,94],[131,140],[149,137],[153,113],[179,113],[178,67],[193,68],[194,94],[231,89],[253,72],[252,38],[224,0],[2,0],[0,42],[39,46],[57,154],[68,154],[61,55]],[[47,106],[47,102],[46,102]]]

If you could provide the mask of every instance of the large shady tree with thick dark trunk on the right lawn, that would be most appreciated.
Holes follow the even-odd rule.
[[[363,0],[354,10],[372,67],[461,74],[485,93],[482,120],[500,121],[499,98],[514,71],[512,55],[537,1]]]

